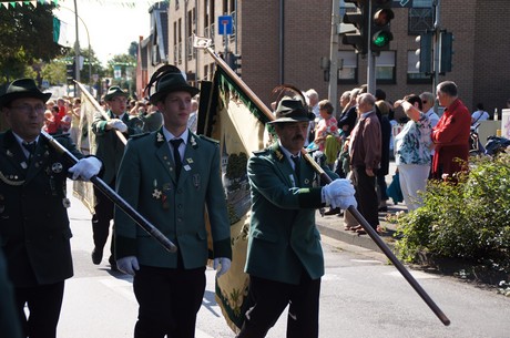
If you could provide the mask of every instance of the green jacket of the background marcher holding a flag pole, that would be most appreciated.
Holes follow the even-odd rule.
[[[116,119],[111,111],[108,111],[106,114],[110,119]],[[122,122],[128,125],[128,131],[124,133],[126,139],[142,133],[143,122],[139,117],[130,116],[125,113],[122,116]],[[103,162],[104,173],[101,178],[104,183],[111,184],[119,172],[125,145],[119,139],[114,129],[106,130],[106,123],[108,121],[103,114],[100,112],[94,114],[92,132],[95,134],[96,151],[93,153]]]

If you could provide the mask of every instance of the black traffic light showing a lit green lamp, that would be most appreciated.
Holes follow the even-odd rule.
[[[394,40],[390,32],[390,21],[395,18],[391,10],[391,0],[371,0],[370,12],[370,50],[380,52],[389,50],[389,42]]]

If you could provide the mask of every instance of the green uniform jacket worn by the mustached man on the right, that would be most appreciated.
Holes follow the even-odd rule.
[[[322,187],[312,186],[314,168],[302,158],[300,177],[295,177],[290,163],[275,144],[255,153],[247,170],[253,204],[246,273],[295,285],[303,270],[312,279],[320,278],[324,257],[315,208],[324,204]]]

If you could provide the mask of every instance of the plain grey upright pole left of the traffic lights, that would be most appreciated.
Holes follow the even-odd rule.
[[[340,24],[340,0],[333,0],[332,8],[332,43],[329,48],[329,88],[328,100],[335,112],[338,107],[338,25]]]

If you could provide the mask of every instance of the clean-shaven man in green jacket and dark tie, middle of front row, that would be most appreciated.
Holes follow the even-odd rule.
[[[128,142],[116,188],[178,249],[176,254],[165,252],[116,211],[116,264],[120,270],[134,275],[139,303],[135,338],[193,338],[205,291],[205,209],[216,276],[228,270],[232,258],[220,144],[186,127],[198,89],[188,85],[178,69],[167,66],[153,80],[156,91],[150,100],[163,114],[164,125]]]

